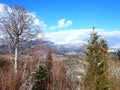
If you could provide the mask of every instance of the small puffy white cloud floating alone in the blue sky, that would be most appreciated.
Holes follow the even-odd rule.
[[[72,24],[72,20],[66,20],[66,19],[61,19],[58,21],[58,25],[53,25],[50,27],[50,29],[56,29],[56,28],[62,28],[62,27],[67,27]]]

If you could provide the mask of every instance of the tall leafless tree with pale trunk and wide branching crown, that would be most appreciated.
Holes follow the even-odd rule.
[[[34,17],[24,6],[12,5],[4,7],[5,14],[1,16],[0,27],[10,38],[15,47],[14,68],[17,73],[18,47],[22,40],[33,38],[39,31],[34,24]]]

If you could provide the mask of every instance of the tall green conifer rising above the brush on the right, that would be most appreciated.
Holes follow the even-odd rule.
[[[107,50],[106,41],[93,28],[85,51],[89,65],[84,77],[84,90],[111,90],[107,75]]]

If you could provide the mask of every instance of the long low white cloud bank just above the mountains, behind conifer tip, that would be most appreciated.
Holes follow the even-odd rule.
[[[104,38],[109,47],[120,46],[120,31],[105,31],[104,29],[95,29],[102,38]],[[86,43],[90,37],[92,29],[79,29],[79,30],[64,30],[58,32],[47,33],[47,38],[56,44],[75,44]]]

